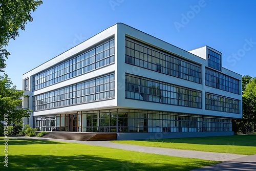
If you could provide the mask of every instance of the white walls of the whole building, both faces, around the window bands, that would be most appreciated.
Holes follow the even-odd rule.
[[[102,66],[98,69],[94,69],[94,70],[85,72],[80,75],[77,74],[76,76],[74,76],[72,78],[69,78],[66,80],[64,79],[57,83],[53,83],[50,86],[46,86],[46,87],[43,86],[44,88],[39,88],[38,90],[35,90],[35,88],[34,88],[35,85],[33,85],[35,83],[35,80],[34,80],[35,75],[38,75],[39,73],[41,73],[43,71],[48,71],[49,69],[55,67],[59,63],[65,62],[65,61],[71,59],[72,57],[77,56],[77,54],[82,54],[83,51],[87,51],[88,49],[97,46],[97,44],[99,42],[104,41],[112,36],[114,37],[114,62],[112,62],[108,65]],[[129,63],[129,62],[125,62],[125,41],[126,41],[125,37],[131,38],[132,41],[135,41],[135,43],[138,41],[139,43],[141,43],[145,46],[148,46],[152,49],[155,48],[155,49],[159,50],[159,52],[161,51],[161,53],[163,53],[163,54],[166,53],[169,56],[175,55],[176,57],[181,58],[182,60],[184,59],[187,62],[192,62],[192,63],[195,63],[195,65],[200,66],[201,67],[200,83],[182,79],[182,78],[179,78],[178,76],[163,74],[162,72],[164,72],[163,70],[165,68],[162,68],[159,70],[160,72],[159,71],[157,72],[157,71],[153,71],[153,69],[150,70],[150,69],[140,67],[140,66],[136,65],[136,63],[133,63],[133,65],[131,65],[131,63]],[[199,49],[195,49],[195,50],[191,50],[188,52],[188,51],[182,50],[176,46],[170,45],[167,42],[162,41],[156,37],[153,37],[144,32],[141,32],[137,29],[134,29],[130,26],[127,26],[122,23],[117,23],[117,24],[109,27],[108,29],[103,30],[102,32],[98,33],[97,35],[89,38],[88,40],[82,42],[81,44],[75,46],[74,48],[54,57],[53,59],[51,59],[49,61],[46,61],[45,63],[42,63],[42,65],[34,68],[33,70],[31,70],[23,75],[24,90],[26,90],[26,88],[25,88],[26,81],[25,80],[29,79],[28,88],[25,91],[25,95],[29,96],[29,102],[28,102],[28,99],[25,99],[24,103],[23,103],[23,107],[24,108],[29,107],[30,109],[34,110],[31,117],[29,118],[29,121],[25,119],[25,124],[29,123],[31,126],[38,127],[38,125],[36,125],[37,122],[35,121],[35,117],[38,118],[38,116],[48,116],[48,115],[54,116],[54,115],[59,115],[59,114],[79,114],[79,112],[81,112],[81,111],[85,112],[85,111],[104,110],[104,109],[151,110],[151,111],[172,112],[172,113],[177,113],[177,115],[182,113],[182,114],[187,114],[187,115],[191,115],[191,116],[193,116],[193,115],[200,116],[200,117],[212,116],[212,117],[224,118],[224,119],[225,118],[226,119],[242,118],[242,95],[241,95],[242,94],[242,92],[241,92],[242,91],[242,86],[241,86],[242,85],[241,84],[242,76],[237,73],[234,73],[230,70],[222,68],[222,67],[221,67],[221,71],[218,71],[216,69],[212,69],[212,68],[208,67],[207,60],[210,59],[210,57],[207,57],[208,50],[211,50],[212,52],[215,52],[221,56],[220,52],[218,52],[215,49],[212,49],[208,46],[205,46],[205,47],[202,47]],[[97,53],[97,50],[96,50],[96,53]],[[167,56],[166,56],[166,59],[167,59]],[[220,60],[221,60],[221,57],[220,57]],[[141,61],[141,62],[143,62],[143,61]],[[146,63],[146,61],[144,61],[144,62]],[[146,65],[148,66],[149,64],[146,63]],[[150,65],[152,65],[152,63]],[[154,63],[153,63],[153,65],[154,65]],[[165,65],[164,62],[161,63],[160,67],[163,67],[163,65]],[[167,64],[165,66],[167,66]],[[212,84],[213,86],[217,86],[217,88],[206,86],[206,83],[205,83],[206,69],[205,68],[208,68],[209,70],[218,72],[219,74],[223,74],[228,77],[232,77],[233,79],[236,79],[238,81],[239,93],[232,93],[232,92],[221,90],[221,86],[219,86],[219,84],[221,84],[221,81],[222,81],[221,79],[220,80],[218,79],[217,83]],[[50,107],[47,108],[44,106],[44,109],[40,109],[40,110],[35,110],[35,108],[34,108],[34,105],[35,105],[34,103],[36,101],[33,100],[33,98],[35,99],[35,97],[38,95],[44,94],[46,92],[51,92],[54,90],[59,90],[61,88],[65,88],[72,84],[75,84],[75,83],[78,83],[81,81],[90,80],[92,78],[100,77],[100,76],[102,76],[104,74],[108,74],[108,73],[114,73],[115,86],[114,86],[114,97],[112,97],[112,98],[87,101],[87,102],[79,102],[79,103],[77,102],[74,105],[71,105],[71,103],[69,103],[69,105],[55,106],[54,108],[50,108]],[[188,105],[185,106],[184,104],[183,105],[172,105],[172,103],[167,103],[167,102],[164,103],[162,101],[162,99],[164,97],[163,90],[161,90],[161,96],[162,96],[162,97],[160,97],[161,100],[159,100],[158,102],[145,101],[145,100],[143,100],[143,98],[141,98],[142,97],[141,94],[140,94],[141,97],[139,97],[139,99],[137,99],[137,100],[132,99],[132,98],[125,98],[126,97],[125,89],[127,89],[127,88],[125,88],[125,84],[127,83],[127,82],[125,82],[125,78],[126,78],[125,74],[126,75],[132,74],[132,75],[140,76],[143,78],[161,81],[163,84],[165,84],[165,83],[174,84],[174,85],[181,86],[184,88],[197,90],[197,91],[201,92],[200,107],[199,108],[191,108]],[[186,75],[186,77],[188,78],[187,75]],[[212,78],[210,78],[210,79],[212,79]],[[47,79],[47,78],[44,78],[44,79]],[[47,80],[42,80],[42,81],[47,81]],[[226,85],[224,85],[224,86],[226,86]],[[226,88],[226,87],[224,87],[224,88]],[[136,90],[133,90],[133,91],[135,91],[134,93],[136,94]],[[188,91],[188,90],[186,90],[186,91]],[[239,112],[232,113],[232,112],[230,112],[231,111],[230,109],[227,109],[227,110],[230,110],[229,112],[223,112],[221,110],[222,109],[224,110],[224,108],[222,108],[221,106],[218,106],[218,110],[213,110],[215,108],[212,108],[211,110],[206,109],[205,93],[211,93],[211,94],[215,94],[218,96],[222,96],[223,98],[225,97],[225,98],[231,98],[231,99],[237,100],[237,102],[239,104],[236,106],[239,106],[239,109],[237,109],[236,111],[239,111]],[[150,96],[151,95],[147,95],[146,99],[150,99]],[[44,97],[44,96],[42,96],[42,97]],[[167,93],[166,93],[166,98],[167,98]],[[224,100],[226,100],[225,98],[224,98]],[[45,99],[47,99],[47,97]],[[171,98],[169,97],[169,99],[171,99]],[[176,99],[176,100],[178,101],[178,99]],[[44,101],[44,100],[42,100],[42,101]],[[187,101],[189,101],[189,100],[187,100]],[[223,101],[219,102],[218,104],[222,105],[222,102]],[[44,102],[42,102],[42,103],[44,103]],[[217,104],[217,103],[215,103],[215,104]],[[231,105],[230,102],[229,102],[229,105]],[[230,108],[230,106],[229,106],[229,108]],[[64,118],[66,118],[66,117],[64,117]],[[81,118],[80,118],[80,120],[78,120],[78,122],[79,122],[79,124],[87,123],[87,121],[83,121],[83,119],[81,119]],[[98,122],[99,122],[99,120],[98,120]],[[128,121],[128,122],[130,122],[130,121]],[[186,123],[187,122],[188,121],[186,121]],[[54,126],[56,126],[56,124],[57,123],[55,122]],[[117,122],[117,124],[118,124],[118,122]],[[98,126],[99,125],[100,125],[100,123],[98,123]],[[164,125],[164,124],[162,123],[161,125]],[[145,124],[144,124],[144,126],[145,126]],[[81,126],[81,127],[84,127],[84,126]],[[127,125],[127,127],[129,127],[129,125]],[[156,127],[159,127],[159,126],[156,126]],[[162,130],[162,129],[159,128],[159,131],[157,131],[156,127],[154,128],[154,126],[148,126],[146,130],[148,132],[161,132],[160,130]],[[166,126],[164,126],[164,127],[166,127]],[[116,130],[118,130],[118,129],[116,129]],[[124,131],[124,132],[129,132],[129,130],[131,130],[131,129],[128,128],[127,130],[128,131]],[[149,131],[149,130],[151,130],[151,131]],[[65,130],[65,131],[68,131],[68,130]],[[82,129],[78,129],[76,131],[82,131]],[[118,131],[116,131],[116,132],[118,132]],[[139,132],[139,129],[138,129],[138,132]],[[188,132],[188,131],[186,131],[186,132]],[[231,132],[231,130],[229,130],[229,132]]]

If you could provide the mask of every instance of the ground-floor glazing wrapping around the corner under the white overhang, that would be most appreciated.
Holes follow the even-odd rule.
[[[40,131],[101,133],[232,131],[230,118],[132,109],[34,116],[34,126]]]

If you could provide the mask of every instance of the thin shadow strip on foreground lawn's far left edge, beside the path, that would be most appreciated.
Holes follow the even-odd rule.
[[[28,145],[28,144],[62,144],[62,142],[49,141],[46,139],[30,139],[30,138],[8,138],[9,145]],[[0,139],[1,144],[4,140]]]

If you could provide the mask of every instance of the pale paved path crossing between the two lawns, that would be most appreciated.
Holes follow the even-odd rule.
[[[15,138],[28,138],[28,137],[15,137]],[[139,146],[139,145],[112,143],[109,141],[75,141],[75,140],[61,140],[61,139],[38,138],[38,137],[29,137],[29,138],[63,141],[63,142],[75,142],[75,143],[88,144],[88,145],[119,148],[119,149],[125,149],[128,151],[135,151],[135,152],[153,153],[153,154],[166,155],[166,156],[198,158],[198,159],[215,160],[215,161],[228,161],[228,160],[245,157],[245,155],[200,152],[200,151],[190,151],[190,150],[184,150],[184,149],[172,149],[172,148],[160,148],[160,147],[147,147],[147,146]]]

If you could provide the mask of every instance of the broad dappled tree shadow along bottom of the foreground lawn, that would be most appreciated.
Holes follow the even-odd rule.
[[[163,160],[165,160],[163,158]],[[76,155],[76,156],[41,156],[41,155],[18,155],[8,156],[8,170],[191,170],[209,165],[210,162],[203,162],[191,159],[189,162],[180,165],[161,163],[136,163],[136,160],[126,161],[102,158],[101,156]]]

